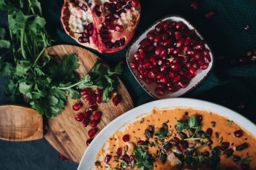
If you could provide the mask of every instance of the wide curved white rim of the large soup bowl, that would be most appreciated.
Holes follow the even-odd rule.
[[[175,104],[175,105],[170,106],[170,104],[172,104],[172,103],[180,103],[180,104],[178,104],[178,105]],[[195,105],[195,106],[192,106],[192,105]],[[196,107],[196,106],[199,106],[199,107]],[[116,126],[116,125],[114,125],[115,123],[122,122],[122,120],[125,121],[125,123],[126,123],[126,122],[129,122],[129,121],[133,120],[133,119],[136,119],[136,117],[142,115],[143,113],[147,113],[147,112],[141,113],[141,110],[150,111],[153,108],[166,108],[166,109],[168,109],[168,108],[172,108],[172,107],[194,108],[194,109],[198,109],[198,110],[201,109],[201,110],[205,110],[205,111],[211,111],[213,113],[218,114],[219,116],[224,116],[227,119],[232,120],[237,125],[239,125],[243,129],[245,129],[248,133],[252,134],[253,136],[256,136],[256,125],[253,122],[251,122],[249,119],[245,118],[241,114],[239,114],[239,113],[237,113],[237,112],[235,112],[235,111],[233,111],[229,108],[226,108],[224,106],[221,106],[221,105],[218,105],[218,104],[215,104],[215,103],[212,103],[212,102],[207,102],[207,101],[204,101],[204,100],[200,100],[200,99],[191,99],[191,98],[160,99],[160,100],[155,100],[153,102],[148,102],[148,103],[140,105],[136,108],[133,108],[130,111],[127,111],[127,112],[123,113],[122,115],[118,116],[116,119],[111,121],[108,125],[106,125],[99,132],[99,134],[97,134],[97,136],[93,139],[91,144],[87,147],[87,150],[85,150],[84,155],[83,155],[83,157],[80,161],[80,164],[79,164],[79,167],[78,167],[77,170],[89,170],[90,169],[90,168],[85,169],[83,167],[84,164],[90,164],[90,167],[93,166],[93,164],[95,162],[95,159],[96,159],[96,155],[97,155],[97,153],[100,149],[100,147],[99,147],[99,148],[97,148],[97,150],[95,150],[93,148],[94,145],[99,144],[100,146],[102,146],[103,144],[105,144],[105,142],[108,138],[106,140],[98,140],[98,139],[101,138],[102,134],[105,133],[105,131],[108,130],[109,127],[111,127],[111,126],[115,127]],[[221,111],[222,113],[218,113],[218,111]],[[133,114],[132,116],[129,116],[127,119],[124,119],[126,116],[132,114],[133,112],[134,113],[139,112],[139,113]],[[227,115],[229,115],[229,116],[227,116]],[[231,118],[230,116],[232,116],[233,118]],[[125,123],[123,123],[122,125],[124,125]],[[122,125],[116,127],[116,130],[119,130],[119,128]],[[116,130],[111,132],[111,134],[116,132]],[[95,151],[96,151],[96,153],[95,153]],[[93,157],[90,156],[90,159],[92,159],[93,161],[92,162],[89,161],[90,162],[89,163],[88,160],[86,160],[86,156],[90,152],[93,152],[94,156]]]

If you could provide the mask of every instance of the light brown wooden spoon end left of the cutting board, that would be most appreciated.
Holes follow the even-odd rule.
[[[31,141],[43,138],[43,118],[37,111],[19,105],[0,106],[0,139]]]

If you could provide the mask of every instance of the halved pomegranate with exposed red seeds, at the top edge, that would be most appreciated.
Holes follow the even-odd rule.
[[[139,20],[139,0],[64,0],[61,10],[65,32],[101,53],[125,48]]]

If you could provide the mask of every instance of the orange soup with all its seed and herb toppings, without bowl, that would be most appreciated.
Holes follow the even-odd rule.
[[[256,169],[256,138],[218,114],[153,109],[116,131],[96,156],[96,170]]]

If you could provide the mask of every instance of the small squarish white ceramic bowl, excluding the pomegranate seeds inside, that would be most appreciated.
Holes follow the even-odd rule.
[[[155,92],[155,88],[157,87],[157,83],[154,82],[150,85],[147,82],[145,82],[145,80],[140,79],[139,75],[138,75],[138,72],[134,71],[134,69],[131,68],[130,61],[134,61],[133,56],[138,50],[138,45],[142,40],[144,40],[147,37],[146,35],[148,34],[148,32],[152,31],[159,21],[166,21],[166,20],[172,20],[172,21],[175,21],[175,22],[180,22],[181,21],[181,22],[185,23],[189,27],[189,29],[195,29],[196,34],[201,38],[201,40],[204,39],[201,36],[201,34],[197,31],[197,29],[194,26],[192,26],[191,23],[189,23],[188,20],[186,20],[183,17],[180,17],[178,15],[168,15],[168,16],[163,17],[162,19],[156,21],[155,23],[153,23],[153,25],[151,25],[143,34],[141,34],[140,37],[128,48],[128,51],[127,51],[127,54],[126,54],[126,61],[128,63],[128,67],[130,68],[130,70],[131,70],[132,74],[134,75],[135,79],[137,79],[139,84],[143,87],[143,89],[149,95],[151,95],[151,96],[153,96],[154,98],[157,98],[157,99],[173,98],[173,97],[181,96],[181,95],[184,95],[184,94],[188,93],[193,88],[198,86],[207,77],[209,72],[212,70],[212,66],[213,66],[213,63],[214,63],[214,58],[213,58],[213,55],[212,55],[212,51],[206,43],[205,48],[209,49],[209,51],[210,51],[209,54],[210,54],[210,57],[212,59],[212,62],[209,63],[209,67],[206,70],[198,69],[198,74],[189,82],[189,85],[186,88],[181,88],[179,91],[177,91],[175,93],[172,93],[172,92],[169,92],[168,90],[166,90],[163,95],[161,95],[161,96],[157,95],[157,93]]]

